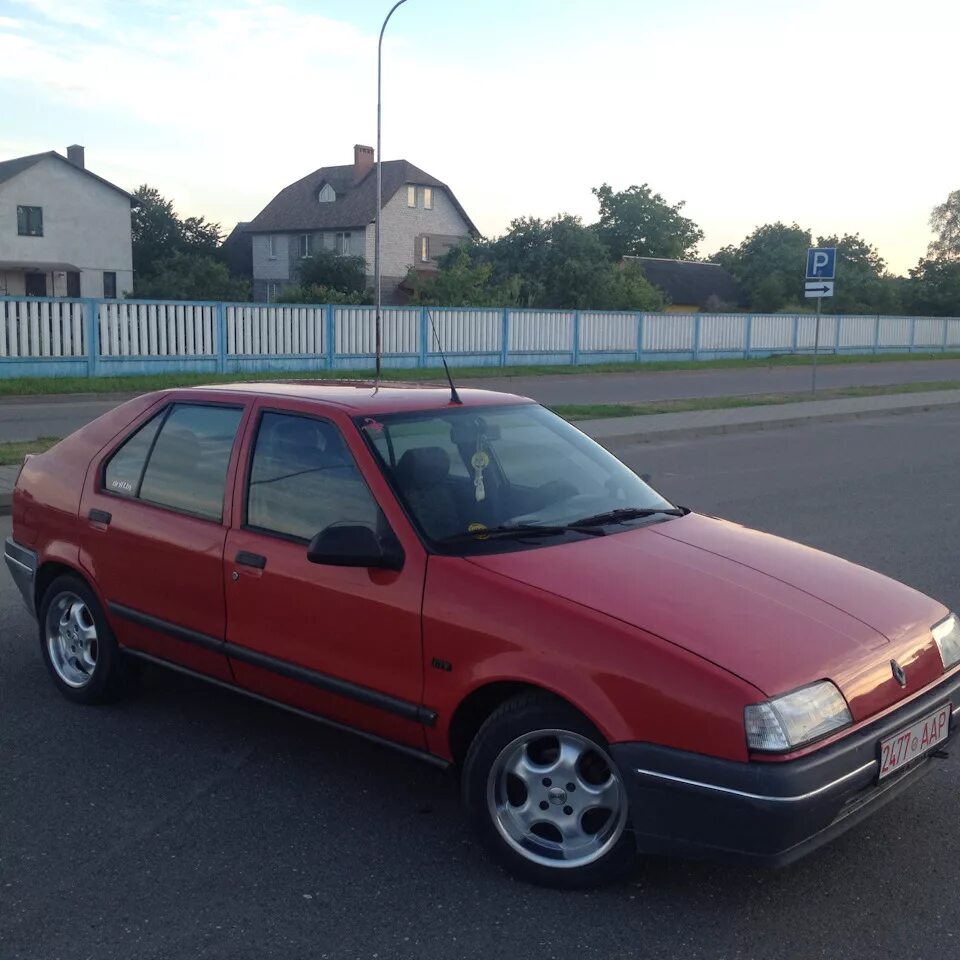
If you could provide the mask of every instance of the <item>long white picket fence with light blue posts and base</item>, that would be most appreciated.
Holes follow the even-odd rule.
[[[439,362],[438,340],[455,361],[489,364],[960,350],[956,317],[824,316],[819,338],[808,314],[385,307],[382,319],[384,357],[419,366]],[[365,366],[375,349],[372,307],[0,297],[0,376],[56,359],[91,372]]]

